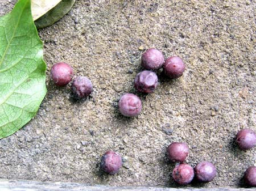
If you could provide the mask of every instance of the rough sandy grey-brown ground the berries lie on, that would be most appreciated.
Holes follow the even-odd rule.
[[[0,15],[16,1],[0,0]],[[0,140],[0,177],[108,185],[177,186],[167,146],[187,142],[187,163],[216,164],[213,182],[192,186],[242,185],[256,164],[256,149],[234,144],[239,129],[256,130],[255,1],[76,1],[44,41],[48,93],[37,116]],[[159,71],[154,94],[138,94],[141,115],[122,117],[118,99],[135,93],[141,54],[155,47],[183,58],[183,77]],[[75,103],[70,86],[49,80],[53,63],[68,62],[75,75],[92,80],[89,99]],[[125,163],[108,176],[102,154],[118,151]]]

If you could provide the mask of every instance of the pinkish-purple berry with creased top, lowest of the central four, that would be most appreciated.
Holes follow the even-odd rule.
[[[138,116],[141,113],[141,99],[134,94],[125,94],[118,103],[119,111],[126,117]]]

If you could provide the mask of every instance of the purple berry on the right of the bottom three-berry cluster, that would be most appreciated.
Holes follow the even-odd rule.
[[[201,162],[195,167],[196,179],[200,182],[210,182],[216,176],[216,167],[207,161]]]

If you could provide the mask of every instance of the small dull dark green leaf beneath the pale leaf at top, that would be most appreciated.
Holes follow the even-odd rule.
[[[35,21],[36,28],[40,29],[51,26],[53,23],[63,18],[63,16],[67,14],[69,10],[71,10],[74,3],[75,0],[61,1],[58,5],[56,5],[56,7],[49,10],[46,14]]]

